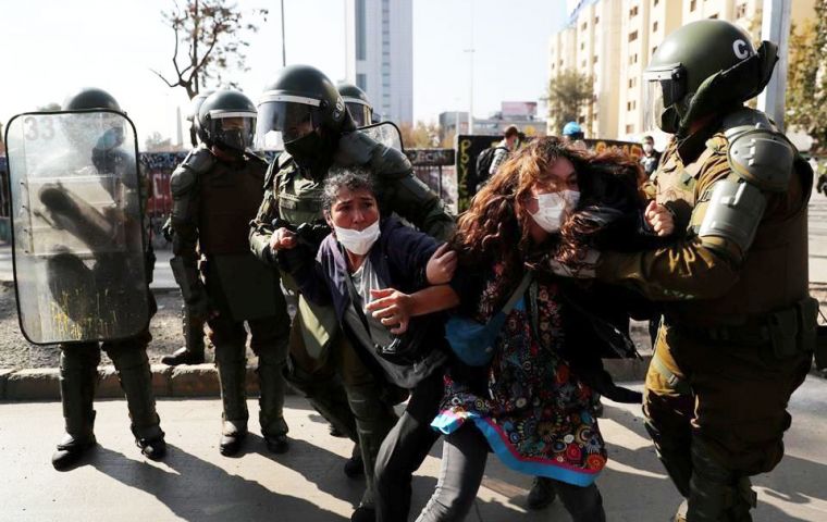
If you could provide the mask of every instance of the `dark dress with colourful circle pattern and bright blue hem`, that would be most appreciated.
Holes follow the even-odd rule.
[[[565,332],[556,285],[534,285],[538,335],[523,298],[497,338],[489,396],[446,375],[441,411],[431,425],[449,434],[471,420],[509,468],[588,486],[606,464],[603,437],[591,414],[593,394],[558,355]],[[496,309],[489,283],[478,312],[485,318]]]

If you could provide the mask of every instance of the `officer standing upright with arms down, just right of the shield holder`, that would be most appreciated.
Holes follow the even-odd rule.
[[[206,320],[215,347],[223,406],[222,455],[247,434],[246,321],[258,356],[261,432],[273,452],[287,450],[284,378],[289,316],[277,272],[249,250],[247,232],[261,202],[267,163],[247,152],[256,107],[236,90],[210,95],[198,112],[203,145],[172,174],[172,265],[190,316]],[[200,261],[200,274],[198,258]]]

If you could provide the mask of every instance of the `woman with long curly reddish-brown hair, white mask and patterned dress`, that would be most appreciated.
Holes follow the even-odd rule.
[[[629,162],[617,176],[601,176],[622,183],[593,183],[585,177],[595,158],[557,138],[536,139],[501,167],[459,219],[452,241],[458,253],[450,282],[456,313],[482,324],[501,311],[506,319],[481,375],[452,369],[446,376],[432,423],[446,435],[442,472],[418,521],[465,519],[489,449],[516,471],[547,477],[575,521],[605,520],[594,481],[607,456],[591,383],[613,384],[601,382],[600,355],[583,355],[595,349],[581,343],[578,318],[588,312],[564,297],[558,276],[543,270],[557,258],[587,262],[595,247],[588,237],[619,217],[632,223],[625,234],[638,234],[638,166]],[[621,204],[613,209],[593,204],[615,196]],[[580,216],[577,223],[572,215]],[[594,359],[592,371],[584,361]]]

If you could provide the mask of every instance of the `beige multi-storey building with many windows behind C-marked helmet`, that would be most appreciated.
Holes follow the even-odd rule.
[[[567,27],[551,37],[550,77],[568,69],[594,77],[594,100],[579,116],[588,137],[638,140],[657,134],[643,121],[643,71],[664,38],[690,22],[719,18],[758,40],[762,5],[763,0],[581,0]],[[813,8],[814,0],[792,2],[793,24],[812,17]]]

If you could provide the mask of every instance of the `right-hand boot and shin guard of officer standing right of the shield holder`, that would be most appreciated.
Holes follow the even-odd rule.
[[[284,359],[276,352],[259,353],[259,422],[267,448],[274,453],[287,451],[287,423],[284,422]]]

